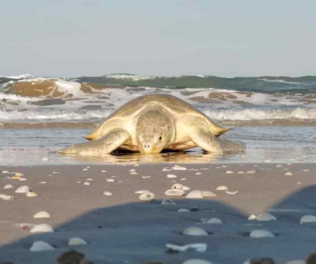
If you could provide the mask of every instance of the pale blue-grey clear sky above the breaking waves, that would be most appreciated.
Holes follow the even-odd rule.
[[[316,75],[316,1],[3,1],[0,75]]]

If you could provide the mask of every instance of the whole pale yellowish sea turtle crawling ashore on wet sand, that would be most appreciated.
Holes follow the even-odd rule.
[[[175,96],[151,94],[117,109],[85,137],[90,142],[59,153],[102,157],[116,149],[160,153],[198,146],[208,152],[243,151],[241,144],[218,138],[228,130]]]

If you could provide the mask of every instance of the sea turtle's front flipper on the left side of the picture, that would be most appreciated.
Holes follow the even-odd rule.
[[[69,148],[60,150],[59,153],[88,157],[102,157],[104,154],[108,154],[116,150],[129,138],[130,135],[126,130],[118,128],[110,131],[99,140],[75,144]]]

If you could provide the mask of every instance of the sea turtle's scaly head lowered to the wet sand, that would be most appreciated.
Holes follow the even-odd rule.
[[[166,114],[150,110],[141,114],[136,123],[136,140],[141,153],[160,153],[175,134],[173,120]]]

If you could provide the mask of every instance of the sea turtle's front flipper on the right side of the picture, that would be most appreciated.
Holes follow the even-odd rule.
[[[228,151],[244,151],[244,147],[237,142],[217,138],[210,131],[203,128],[196,128],[191,131],[191,140],[208,152],[228,152]]]

